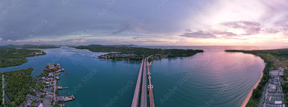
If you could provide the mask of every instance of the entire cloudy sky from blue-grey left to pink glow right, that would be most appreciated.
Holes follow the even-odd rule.
[[[287,0],[1,0],[0,45],[288,45]]]

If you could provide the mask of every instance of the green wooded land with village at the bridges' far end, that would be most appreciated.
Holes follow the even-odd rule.
[[[103,58],[107,60],[141,61],[143,58],[143,54],[145,53],[145,57],[152,55],[148,59],[149,62],[162,58],[190,57],[197,53],[204,52],[203,50],[193,49],[152,49],[143,47],[128,47],[123,45],[87,45],[70,47],[74,47],[76,49],[88,49],[92,52],[109,53],[98,56],[98,58]]]

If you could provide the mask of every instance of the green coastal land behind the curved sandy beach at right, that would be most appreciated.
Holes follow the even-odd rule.
[[[269,50],[225,50],[226,52],[242,52],[245,54],[254,54],[260,56],[264,62],[266,63],[265,68],[263,70],[263,76],[260,80],[257,88],[253,89],[252,97],[246,104],[246,107],[254,107],[263,104],[262,102],[262,92],[266,91],[265,84],[274,78],[270,75],[270,70],[283,71],[283,75],[279,81],[281,81],[281,85],[283,88],[285,104],[288,105],[288,48],[286,49],[269,49]],[[266,85],[267,87],[267,85]],[[280,89],[280,88],[279,88]],[[264,93],[265,95],[265,93]],[[263,98],[265,100],[265,96]],[[261,102],[260,102],[261,100]],[[282,102],[284,103],[284,102]],[[266,105],[267,106],[267,105]]]

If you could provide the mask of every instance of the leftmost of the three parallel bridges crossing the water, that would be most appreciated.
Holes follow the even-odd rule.
[[[137,79],[136,88],[134,91],[134,97],[132,100],[132,106],[131,107],[138,107],[141,77],[142,77],[142,71],[143,71],[143,63],[144,63],[144,58],[142,59],[142,62],[141,62],[140,71],[139,71],[139,75],[138,75],[138,79]]]

